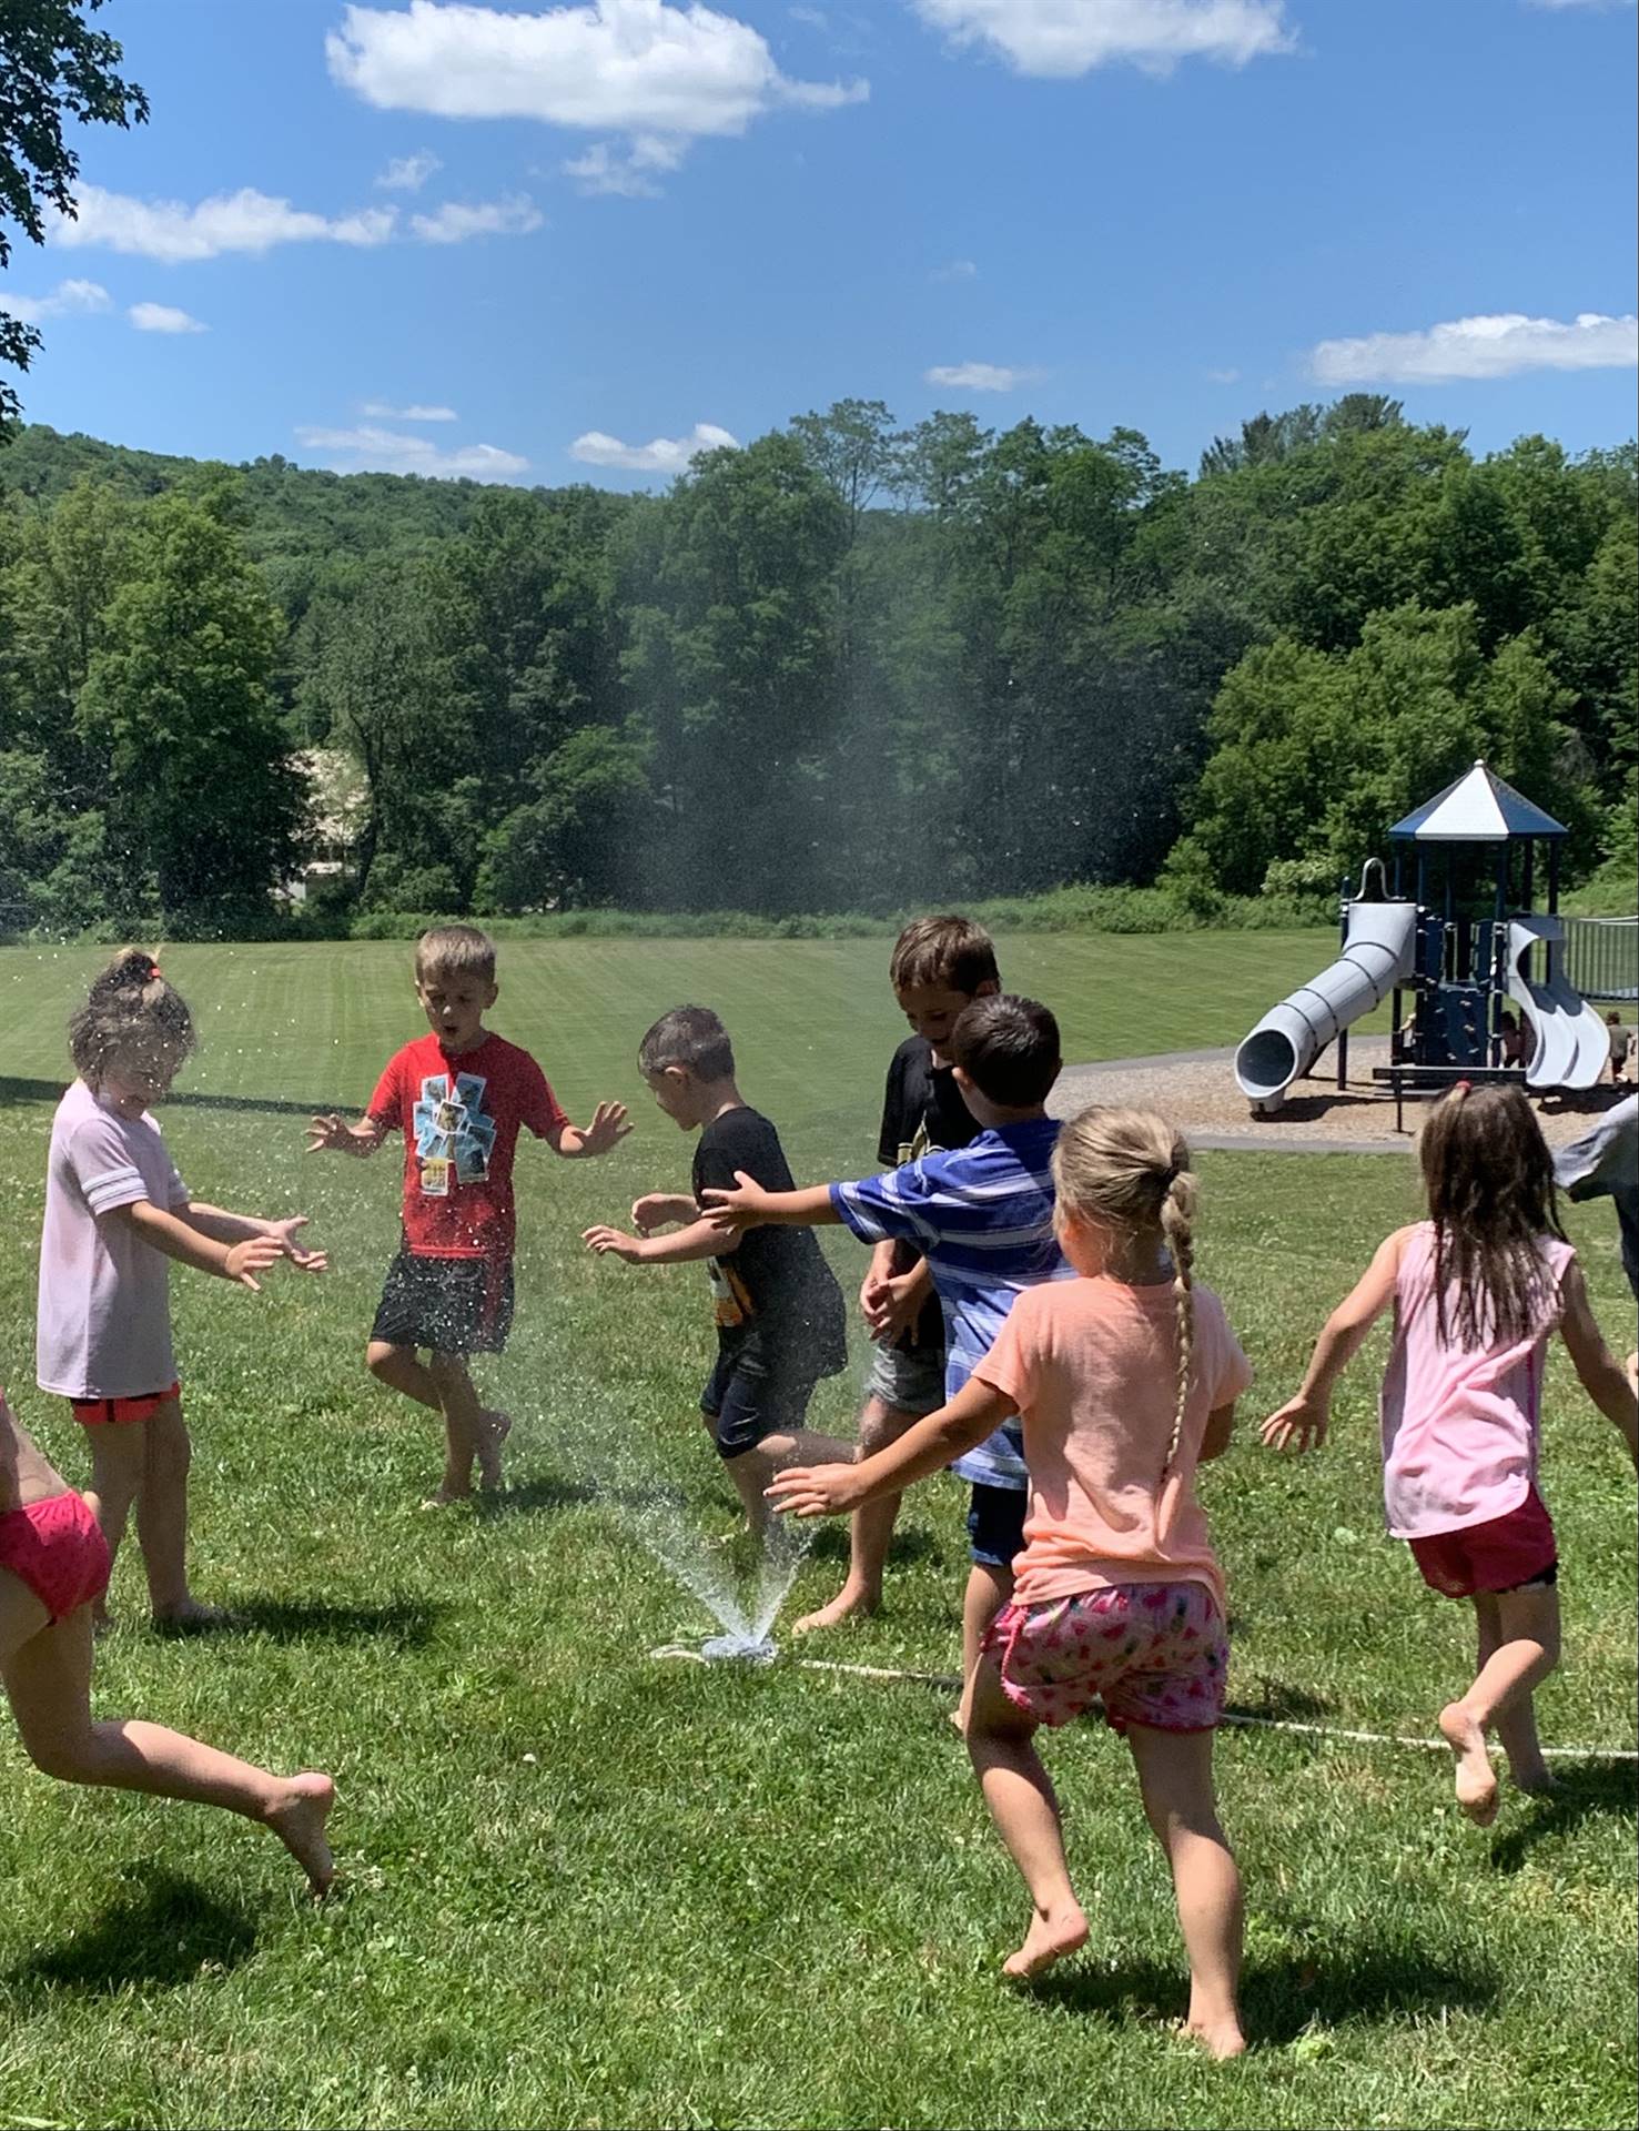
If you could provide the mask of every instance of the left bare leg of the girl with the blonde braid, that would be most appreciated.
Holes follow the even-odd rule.
[[[1036,1720],[1012,1707],[993,1658],[978,1660],[963,1711],[978,1788],[1034,1909],[1023,1946],[1008,1954],[1002,1969],[1006,1975],[1038,1975],[1087,1943],[1087,1918],[1064,1860],[1059,1801],[1036,1752]]]

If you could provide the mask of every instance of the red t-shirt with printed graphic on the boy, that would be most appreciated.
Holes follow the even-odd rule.
[[[518,1127],[548,1140],[569,1123],[529,1051],[486,1036],[450,1053],[420,1036],[388,1061],[369,1117],[405,1136],[405,1245],[416,1257],[512,1257]]]

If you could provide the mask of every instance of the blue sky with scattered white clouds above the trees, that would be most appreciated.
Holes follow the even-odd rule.
[[[857,394],[1635,430],[1626,0],[111,0],[153,115],[4,281],[30,418],[665,482]]]

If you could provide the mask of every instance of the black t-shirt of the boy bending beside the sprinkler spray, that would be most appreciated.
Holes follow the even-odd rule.
[[[733,1191],[744,1170],[765,1191],[791,1191],[791,1166],[774,1125],[740,1104],[701,1127],[693,1187]],[[842,1289],[808,1227],[748,1227],[735,1251],[710,1257],[718,1343],[799,1374],[835,1377],[848,1357]]]

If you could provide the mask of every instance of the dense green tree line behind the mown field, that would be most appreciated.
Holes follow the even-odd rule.
[[[1637,494],[1630,443],[1477,458],[1375,394],[1194,477],[842,401],[637,497],[26,428],[0,904],[264,929],[337,763],[337,923],[1321,893],[1477,754],[1586,872],[1633,850]]]

